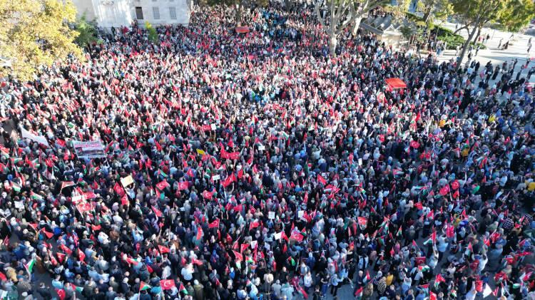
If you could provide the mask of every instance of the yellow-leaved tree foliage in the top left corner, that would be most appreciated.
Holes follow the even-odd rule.
[[[41,66],[51,66],[72,53],[82,58],[74,43],[78,32],[71,0],[0,0],[0,56],[11,67],[0,76],[30,80]]]

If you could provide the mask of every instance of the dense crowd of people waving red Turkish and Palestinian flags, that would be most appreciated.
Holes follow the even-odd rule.
[[[45,141],[1,132],[4,299],[535,299],[514,67],[350,29],[330,55],[306,4],[244,11],[249,33],[234,15],[115,30],[7,82],[4,124]]]

